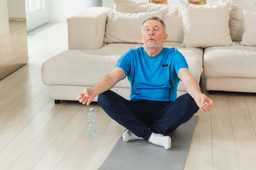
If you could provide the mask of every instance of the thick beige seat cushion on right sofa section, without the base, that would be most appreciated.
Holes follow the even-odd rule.
[[[207,78],[256,78],[256,46],[214,46],[205,48],[204,74]]]

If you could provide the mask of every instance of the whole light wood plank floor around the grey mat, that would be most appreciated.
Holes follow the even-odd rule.
[[[1,170],[97,169],[122,135],[124,127],[97,103],[90,106],[97,111],[97,136],[90,138],[88,106],[49,100],[40,67],[67,48],[66,22],[28,36],[28,64],[0,81]],[[214,108],[196,113],[198,124],[184,169],[255,169],[256,94],[209,96]]]

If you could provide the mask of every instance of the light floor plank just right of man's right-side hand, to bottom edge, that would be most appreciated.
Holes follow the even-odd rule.
[[[212,154],[214,169],[238,169],[236,146],[232,129],[228,98],[226,95],[212,95],[214,108],[212,121]]]

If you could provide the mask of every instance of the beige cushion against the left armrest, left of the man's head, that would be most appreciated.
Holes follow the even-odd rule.
[[[149,17],[162,18],[162,11],[146,13],[108,13],[104,43],[142,43],[141,24]]]

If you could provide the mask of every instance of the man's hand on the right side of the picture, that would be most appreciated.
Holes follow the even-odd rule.
[[[199,94],[195,101],[202,112],[210,111],[212,109],[213,101],[209,97],[205,96],[205,94]]]

